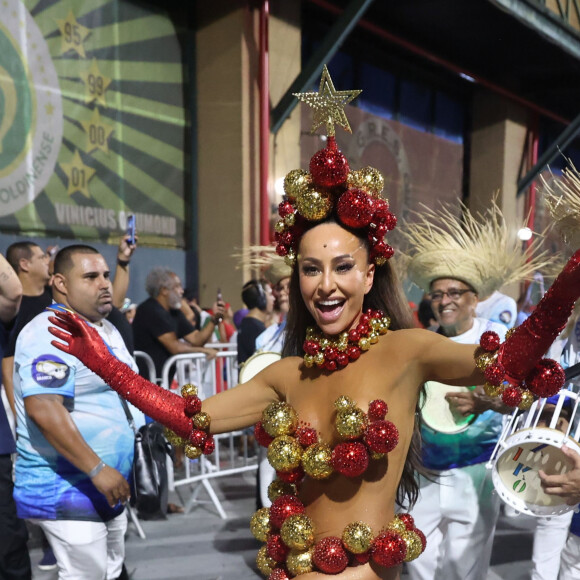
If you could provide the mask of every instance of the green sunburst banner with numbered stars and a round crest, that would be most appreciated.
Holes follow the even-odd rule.
[[[183,58],[126,0],[0,0],[0,231],[184,246]]]

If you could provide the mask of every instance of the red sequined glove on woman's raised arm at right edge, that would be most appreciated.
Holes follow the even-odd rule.
[[[525,322],[500,347],[498,361],[512,384],[524,380],[566,325],[574,302],[580,297],[580,250]]]

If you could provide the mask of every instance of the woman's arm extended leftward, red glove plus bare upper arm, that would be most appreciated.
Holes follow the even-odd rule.
[[[49,331],[63,341],[53,340],[55,347],[76,356],[146,415],[180,437],[189,439],[193,427],[184,398],[150,383],[118,360],[109,352],[97,331],[76,314],[55,311],[49,320],[57,327],[51,327]],[[269,403],[279,400],[278,393],[264,375],[203,402],[202,410],[212,419],[212,433],[249,427],[260,419],[262,410]]]

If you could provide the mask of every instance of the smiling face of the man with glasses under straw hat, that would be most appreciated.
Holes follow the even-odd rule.
[[[477,294],[465,282],[440,278],[431,283],[431,308],[446,336],[457,336],[473,326]]]

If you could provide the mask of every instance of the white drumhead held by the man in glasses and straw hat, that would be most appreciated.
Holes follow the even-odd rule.
[[[475,416],[464,417],[459,413],[454,413],[449,402],[445,399],[445,395],[451,392],[466,393],[470,390],[468,387],[452,387],[437,381],[426,382],[425,401],[420,401],[423,423],[441,433],[453,434],[465,431]]]

